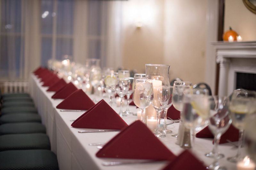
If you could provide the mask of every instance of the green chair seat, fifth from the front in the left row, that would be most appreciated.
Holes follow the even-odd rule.
[[[35,107],[6,107],[1,109],[2,115],[4,114],[14,114],[14,113],[37,113],[37,109]]]

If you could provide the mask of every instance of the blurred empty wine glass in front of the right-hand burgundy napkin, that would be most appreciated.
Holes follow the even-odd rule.
[[[213,163],[208,166],[210,169],[226,169],[225,166],[220,166],[219,159],[223,158],[224,155],[220,154],[218,151],[218,145],[220,143],[220,137],[224,134],[232,120],[229,116],[227,98],[220,96],[212,96],[211,98],[211,110],[210,110],[210,120],[209,129],[214,134],[214,146],[211,152],[206,153],[206,157],[214,158]]]

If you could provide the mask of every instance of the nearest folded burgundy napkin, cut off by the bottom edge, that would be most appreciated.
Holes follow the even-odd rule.
[[[206,170],[203,162],[198,160],[189,150],[183,151],[162,170]]]

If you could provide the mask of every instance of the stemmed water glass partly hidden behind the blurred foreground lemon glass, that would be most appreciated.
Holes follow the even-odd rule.
[[[189,92],[189,90],[192,90],[192,82],[189,81],[174,81],[173,84],[173,91],[172,91],[172,105],[175,109],[182,112],[183,107],[183,96],[185,93]],[[181,122],[182,123],[182,122]],[[180,124],[179,131],[182,125]],[[179,132],[178,132],[179,133]],[[173,134],[173,137],[178,137],[177,134]],[[179,143],[179,142],[178,142]]]

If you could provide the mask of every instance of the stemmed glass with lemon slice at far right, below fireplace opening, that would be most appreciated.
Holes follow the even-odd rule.
[[[228,157],[230,162],[238,162],[241,159],[241,145],[243,142],[243,134],[246,117],[255,112],[252,102],[255,100],[255,92],[247,91],[246,95],[232,96],[230,99],[228,109],[232,118],[232,125],[239,129],[239,141],[237,153],[233,157]]]

